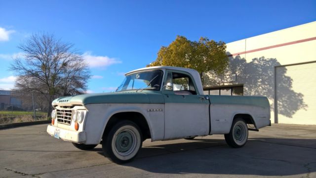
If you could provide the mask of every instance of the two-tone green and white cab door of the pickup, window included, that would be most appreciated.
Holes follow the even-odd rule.
[[[164,139],[207,135],[209,102],[199,95],[193,78],[184,72],[169,71],[164,84]]]

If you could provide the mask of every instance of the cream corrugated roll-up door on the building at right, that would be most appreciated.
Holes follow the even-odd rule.
[[[316,125],[316,62],[276,67],[276,121]]]

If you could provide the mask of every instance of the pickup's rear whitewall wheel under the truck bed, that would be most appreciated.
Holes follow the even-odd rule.
[[[248,128],[245,121],[240,118],[235,119],[230,133],[224,136],[227,144],[233,148],[245,145],[248,139]]]

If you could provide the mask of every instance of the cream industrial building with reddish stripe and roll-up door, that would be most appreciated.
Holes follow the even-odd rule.
[[[264,95],[271,121],[316,125],[316,21],[227,44],[226,76],[205,94]]]

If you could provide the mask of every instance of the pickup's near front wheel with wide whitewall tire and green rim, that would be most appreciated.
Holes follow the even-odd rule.
[[[102,142],[104,155],[118,164],[132,161],[143,143],[139,127],[127,120],[117,123],[104,137],[103,140],[106,140]]]

